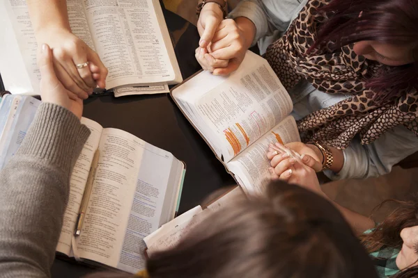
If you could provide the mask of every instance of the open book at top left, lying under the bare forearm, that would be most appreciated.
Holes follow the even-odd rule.
[[[168,92],[167,84],[183,80],[158,0],[67,0],[67,7],[72,32],[109,70],[107,89],[139,86],[116,96]],[[0,1],[0,38],[6,89],[38,95],[37,44],[26,1]]]

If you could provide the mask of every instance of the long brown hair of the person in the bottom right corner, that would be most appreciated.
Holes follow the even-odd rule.
[[[385,247],[400,249],[403,244],[401,231],[418,225],[418,197],[411,201],[388,200],[386,202],[395,202],[398,206],[378,224],[373,232],[361,236],[362,243],[369,252],[375,252]],[[418,277],[418,267],[408,268],[395,277]]]

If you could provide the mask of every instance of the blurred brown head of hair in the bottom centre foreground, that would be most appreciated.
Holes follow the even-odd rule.
[[[150,278],[377,277],[330,202],[281,182],[263,196],[234,199],[146,268]]]

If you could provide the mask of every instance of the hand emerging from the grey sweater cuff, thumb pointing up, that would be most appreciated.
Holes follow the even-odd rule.
[[[74,95],[73,92],[65,89],[56,77],[52,51],[47,44],[42,44],[38,51],[38,66],[42,76],[40,79],[40,97],[42,101],[63,106],[81,119],[83,101]]]

